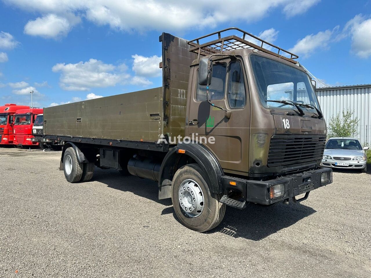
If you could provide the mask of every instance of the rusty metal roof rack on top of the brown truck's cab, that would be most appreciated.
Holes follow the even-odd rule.
[[[232,35],[232,36],[221,37],[221,33],[229,31],[229,30],[237,30],[241,34],[240,36]],[[200,40],[205,39],[207,37],[214,36],[216,34],[218,35],[217,40],[212,40],[210,42],[200,44]],[[252,40],[252,41],[255,40],[255,43],[252,43],[249,40]],[[260,46],[257,45],[256,43],[260,44]],[[234,49],[257,49],[262,52],[271,54],[273,56],[285,59],[294,64],[298,63],[294,59],[299,58],[298,55],[293,54],[287,50],[284,50],[280,48],[279,46],[266,42],[265,40],[262,40],[259,37],[256,37],[253,34],[247,33],[246,31],[243,31],[237,27],[230,27],[227,29],[223,29],[223,30],[199,37],[197,39],[189,41],[188,44],[191,46],[189,51],[198,54],[198,59],[200,59],[200,55],[207,56],[210,54],[218,54],[218,53],[222,54],[224,51],[234,50]],[[267,46],[271,48],[272,50],[264,48],[265,46],[264,44],[267,44]]]

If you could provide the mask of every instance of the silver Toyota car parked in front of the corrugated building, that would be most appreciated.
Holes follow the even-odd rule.
[[[367,172],[367,155],[361,143],[355,138],[334,137],[325,145],[321,166],[342,169],[360,169]]]

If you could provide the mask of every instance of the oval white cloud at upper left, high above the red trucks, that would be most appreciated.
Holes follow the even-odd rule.
[[[48,14],[28,21],[24,26],[24,33],[31,36],[58,38],[66,36],[70,29],[71,24],[68,19],[56,14]]]

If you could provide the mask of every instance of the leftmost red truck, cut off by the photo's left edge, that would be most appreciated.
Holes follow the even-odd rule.
[[[13,122],[14,114],[19,109],[29,109],[29,106],[16,105],[13,103],[0,106],[0,145],[13,145]]]

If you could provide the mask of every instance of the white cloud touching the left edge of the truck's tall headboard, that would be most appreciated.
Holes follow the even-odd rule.
[[[131,56],[134,59],[132,70],[136,75],[146,77],[157,77],[161,75],[161,69],[159,67],[162,61],[161,57],[156,55],[151,57],[144,57],[138,54]]]

